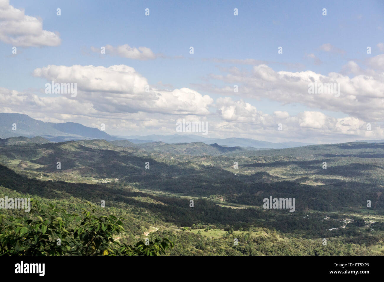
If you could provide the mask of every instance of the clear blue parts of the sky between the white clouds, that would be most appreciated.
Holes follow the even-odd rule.
[[[21,44],[17,46],[17,54],[12,55],[13,44],[9,40],[0,40],[0,52],[2,54],[0,60],[3,66],[0,70],[0,87],[5,89],[15,90],[25,95],[46,97],[48,95],[43,93],[43,86],[50,80],[47,76],[33,76],[32,73],[36,68],[45,68],[49,65],[93,65],[108,68],[123,64],[134,68],[137,73],[147,79],[153,88],[159,88],[158,82],[161,81],[163,84],[168,84],[167,89],[170,91],[187,87],[199,92],[202,96],[208,95],[215,102],[220,97],[231,97],[233,102],[241,100],[244,103],[249,103],[263,114],[273,115],[276,111],[286,111],[290,116],[297,117],[296,125],[301,131],[303,131],[303,126],[300,126],[298,115],[305,111],[311,111],[321,112],[329,119],[350,117],[365,123],[374,122],[378,130],[376,135],[372,135],[372,137],[378,138],[382,135],[382,120],[377,118],[376,114],[371,120],[368,120],[366,114],[354,114],[352,106],[360,109],[358,102],[363,101],[363,97],[356,98],[356,101],[359,100],[356,102],[357,104],[355,103],[356,105],[351,105],[349,108],[347,105],[345,109],[338,110],[337,107],[327,106],[326,103],[316,106],[316,103],[302,102],[297,97],[296,99],[286,97],[286,99],[280,100],[278,96],[274,96],[273,99],[270,99],[268,95],[259,95],[262,86],[257,84],[257,89],[252,88],[252,81],[247,83],[250,92],[246,95],[242,95],[241,90],[239,94],[229,95],[225,91],[212,91],[212,88],[208,87],[210,85],[219,89],[225,86],[233,87],[234,84],[237,84],[239,89],[243,89],[243,79],[237,78],[237,81],[212,79],[212,75],[226,76],[228,69],[237,68],[240,72],[248,73],[245,75],[247,78],[244,77],[244,79],[251,80],[253,68],[259,64],[265,64],[274,72],[312,71],[323,76],[328,76],[329,73],[339,73],[351,79],[356,76],[371,75],[377,81],[381,81],[381,64],[367,60],[383,53],[380,45],[384,42],[384,2],[382,1],[266,1],[258,3],[255,1],[31,2],[11,0],[9,4],[14,8],[24,10],[25,15],[41,20],[43,30],[58,32],[61,43],[56,46],[42,44],[37,47],[22,46]],[[61,9],[60,16],[56,15],[56,8]],[[150,9],[149,16],[145,16],[146,8]],[[238,16],[233,15],[234,8],[238,9]],[[326,16],[322,15],[323,8],[327,9]],[[10,33],[10,31],[7,32]],[[13,35],[10,34],[9,36]],[[117,54],[108,54],[108,52],[107,54],[100,54],[91,50],[92,47],[100,49],[101,46],[106,45],[113,47],[129,45],[132,48],[146,47],[157,54],[157,57],[145,60],[131,59]],[[190,46],[194,47],[194,54],[189,53]],[[279,46],[283,47],[282,54],[277,52]],[[371,46],[371,54],[366,53],[367,46]],[[258,60],[262,63],[243,64],[239,61],[220,61],[245,59]],[[381,60],[381,57],[377,57],[377,59]],[[359,73],[357,71],[351,72],[350,66],[346,68],[346,65],[351,61],[359,66]],[[261,76],[265,78],[263,75]],[[269,80],[266,79],[266,81]],[[353,85],[354,82],[351,84]],[[266,85],[265,87],[267,87],[266,90],[271,89],[271,86]],[[356,88],[364,89],[364,87]],[[380,84],[377,90],[378,95],[382,94],[381,87]],[[81,85],[79,88],[81,89]],[[273,95],[278,95],[277,92],[283,95],[285,91],[283,88],[275,89],[275,85],[272,88],[275,91]],[[288,90],[288,92],[290,91],[295,90]],[[370,94],[369,97],[372,95],[376,94]],[[378,99],[382,101],[382,96],[379,96]],[[223,107],[225,109],[230,107],[228,104],[222,107],[214,104],[205,106],[212,113],[222,110]],[[367,105],[364,104],[364,106]],[[87,118],[71,113],[69,110],[66,114],[71,116],[65,116],[64,112],[57,115],[58,113],[45,112],[43,109],[40,110],[38,116],[33,116],[32,108],[28,110],[22,105],[20,105],[19,110],[17,107],[7,108],[5,109],[7,111],[11,109],[43,120],[75,121],[88,126],[93,125],[91,119],[95,117],[93,115],[92,118],[89,116]],[[368,106],[366,110],[369,112],[372,109],[369,109]],[[140,111],[146,112],[142,109]],[[153,116],[151,119],[166,120],[167,113],[163,110],[160,112],[162,117],[159,117],[159,112],[157,112],[155,114],[157,116]],[[151,110],[147,110],[147,113],[151,113]],[[117,113],[115,112],[115,114]],[[119,112],[118,114],[123,113]],[[174,117],[174,114],[169,114],[176,119],[183,118],[182,115]],[[193,115],[193,112],[188,115]],[[223,119],[223,116],[212,117],[212,119],[215,120],[215,124],[219,123],[219,120],[240,122],[242,117],[247,115],[255,117],[258,114],[250,113],[249,110],[244,114],[241,109],[238,109],[229,120]],[[105,111],[99,113],[99,117],[102,118],[103,116],[107,116]],[[109,118],[111,120],[121,119],[117,116]],[[309,125],[310,123],[304,122],[304,124]],[[333,120],[333,124],[336,126],[337,121]],[[139,129],[141,126],[142,128]],[[324,126],[323,129],[329,127],[329,125]],[[361,126],[359,124],[358,128]],[[106,131],[118,135],[131,135],[129,134],[131,132],[134,135],[138,132],[161,134],[163,130],[164,134],[171,134],[170,129],[174,126],[164,124],[163,127],[169,130],[164,131],[161,128],[156,130],[156,126],[147,128],[143,124],[137,124],[135,132],[132,131],[132,128],[124,129],[123,125],[116,125],[114,129],[110,127]],[[237,125],[232,124],[230,127],[236,128]],[[293,127],[295,126],[292,125]],[[319,126],[312,129],[319,129]],[[265,126],[263,130],[265,130]],[[335,129],[335,131],[338,130]],[[347,133],[334,134],[332,138],[334,140],[347,140],[348,138],[356,139],[362,135],[356,130],[353,134],[348,133],[348,130],[342,131]],[[316,136],[315,133],[316,130],[312,132],[310,137],[312,141],[320,137],[320,142],[326,142],[327,134],[323,132]],[[237,135],[233,130],[229,130],[227,133],[217,130],[216,133],[212,132],[212,134],[215,137]],[[247,130],[238,132],[238,134],[245,137]],[[260,137],[260,132],[257,135]],[[264,139],[268,140],[271,136],[273,134],[266,132]],[[289,136],[286,135],[281,138],[286,140],[290,138]],[[249,137],[252,138],[252,136]],[[303,136],[298,134],[295,139],[299,140],[304,137],[309,138],[308,134]]]

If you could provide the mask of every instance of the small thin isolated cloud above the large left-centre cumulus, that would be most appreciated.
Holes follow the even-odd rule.
[[[156,59],[156,54],[152,52],[151,49],[147,47],[130,47],[128,44],[119,45],[117,47],[113,47],[112,45],[105,46],[106,51],[109,54],[114,56],[120,56],[128,59],[138,59],[138,60],[148,60],[148,59]],[[93,52],[100,52],[100,49],[91,47]]]

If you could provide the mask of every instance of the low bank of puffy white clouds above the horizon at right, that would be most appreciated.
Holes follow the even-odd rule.
[[[318,111],[303,111],[290,115],[287,111],[275,111],[264,114],[242,100],[233,101],[231,97],[220,97],[215,106],[221,120],[210,123],[210,130],[235,133],[237,137],[260,139],[268,137],[278,140],[307,140],[313,138],[329,143],[340,140],[382,139],[384,128],[379,123],[372,123],[372,130],[367,130],[368,122],[354,117],[335,118]],[[210,120],[215,117],[210,117]],[[276,133],[278,124],[283,131]],[[227,132],[227,134],[228,134]]]

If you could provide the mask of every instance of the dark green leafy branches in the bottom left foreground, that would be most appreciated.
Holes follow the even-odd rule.
[[[94,215],[90,210],[70,214],[31,200],[32,208],[24,216],[0,214],[0,255],[15,256],[159,256],[171,250],[168,239],[156,239],[148,245],[140,241],[135,246],[114,241],[124,231],[122,220],[113,215]]]

